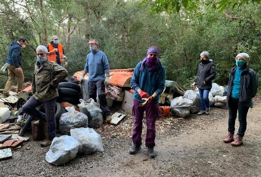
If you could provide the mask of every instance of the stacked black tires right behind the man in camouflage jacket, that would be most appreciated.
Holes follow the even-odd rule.
[[[68,102],[73,105],[79,104],[81,98],[81,88],[78,84],[73,82],[61,82],[59,83],[59,98],[58,102]]]

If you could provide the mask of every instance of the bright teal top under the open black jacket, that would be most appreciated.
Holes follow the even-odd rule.
[[[234,74],[234,80],[232,85],[232,92],[231,97],[232,98],[239,98],[239,92],[240,92],[240,81],[241,81],[241,73],[244,71],[242,68],[236,69],[236,72]]]

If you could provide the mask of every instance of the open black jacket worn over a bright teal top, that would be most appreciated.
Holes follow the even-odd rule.
[[[228,83],[228,95],[227,95],[227,105],[229,106],[230,94],[232,92],[234,74],[236,72],[234,67],[230,70],[229,83]],[[248,66],[245,67],[244,71],[241,73],[240,79],[240,92],[239,92],[239,102],[248,107],[253,108],[252,98],[257,94],[258,88],[258,78],[255,71]]]

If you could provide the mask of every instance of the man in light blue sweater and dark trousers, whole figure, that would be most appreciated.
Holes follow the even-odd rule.
[[[100,106],[106,116],[106,123],[111,122],[111,111],[106,100],[105,85],[110,85],[109,73],[110,66],[108,59],[102,51],[98,50],[99,43],[96,39],[89,40],[89,48],[91,53],[86,57],[86,64],[84,72],[80,77],[80,82],[84,81],[84,76],[89,73],[89,96],[97,102],[97,90],[98,98],[100,100]],[[106,74],[106,79],[105,79]]]

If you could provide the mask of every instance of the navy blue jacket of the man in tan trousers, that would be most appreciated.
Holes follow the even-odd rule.
[[[20,68],[22,66],[22,53],[21,46],[17,41],[13,41],[7,52],[7,64],[14,65],[15,68]]]

